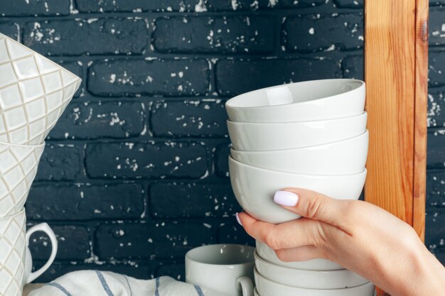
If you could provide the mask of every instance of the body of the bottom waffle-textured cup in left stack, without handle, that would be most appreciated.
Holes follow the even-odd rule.
[[[25,270],[25,209],[0,219],[0,296],[21,295]]]

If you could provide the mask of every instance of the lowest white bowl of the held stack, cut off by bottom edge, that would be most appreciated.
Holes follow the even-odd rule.
[[[257,291],[261,296],[370,296],[375,291],[375,285],[372,283],[343,289],[306,289],[275,283],[260,275],[256,268],[254,275]]]

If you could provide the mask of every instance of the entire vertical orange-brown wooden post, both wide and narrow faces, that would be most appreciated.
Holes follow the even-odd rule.
[[[365,1],[365,199],[424,239],[428,0]],[[382,295],[379,291],[379,295]]]

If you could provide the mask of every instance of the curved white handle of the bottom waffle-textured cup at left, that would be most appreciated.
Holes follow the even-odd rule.
[[[33,257],[31,256],[31,251],[29,250],[29,239],[34,232],[43,231],[50,238],[51,241],[51,255],[48,261],[43,265],[39,270],[32,272],[33,269]],[[53,229],[46,223],[38,224],[36,226],[31,227],[26,231],[26,256],[25,256],[25,275],[23,277],[23,284],[26,285],[31,283],[33,280],[36,280],[39,276],[41,276],[55,259],[55,255],[57,255],[58,242],[53,232]]]

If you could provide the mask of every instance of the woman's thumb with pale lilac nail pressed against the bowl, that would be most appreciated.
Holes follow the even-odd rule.
[[[341,229],[347,227],[345,214],[351,214],[351,201],[333,199],[324,194],[299,188],[277,191],[274,202],[309,219],[324,221]]]

